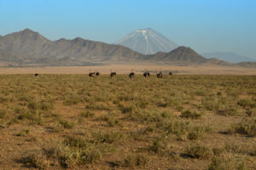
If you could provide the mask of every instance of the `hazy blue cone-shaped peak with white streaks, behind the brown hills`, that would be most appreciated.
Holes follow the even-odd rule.
[[[170,52],[178,45],[151,28],[131,32],[116,42],[141,54]]]

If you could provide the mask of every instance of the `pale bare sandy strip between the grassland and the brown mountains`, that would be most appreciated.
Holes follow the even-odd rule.
[[[216,65],[176,66],[154,64],[113,64],[99,66],[53,66],[53,67],[26,67],[26,68],[0,68],[0,74],[88,74],[89,71],[100,71],[109,74],[110,70],[117,74],[127,74],[133,69],[137,74],[147,70],[150,72],[163,71],[174,74],[214,74],[214,75],[256,75],[256,68],[228,67]]]

